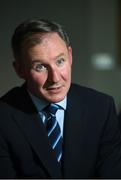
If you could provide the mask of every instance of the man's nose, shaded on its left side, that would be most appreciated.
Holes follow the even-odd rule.
[[[48,71],[48,81],[51,83],[57,83],[60,80],[60,73],[57,68],[51,67]]]

